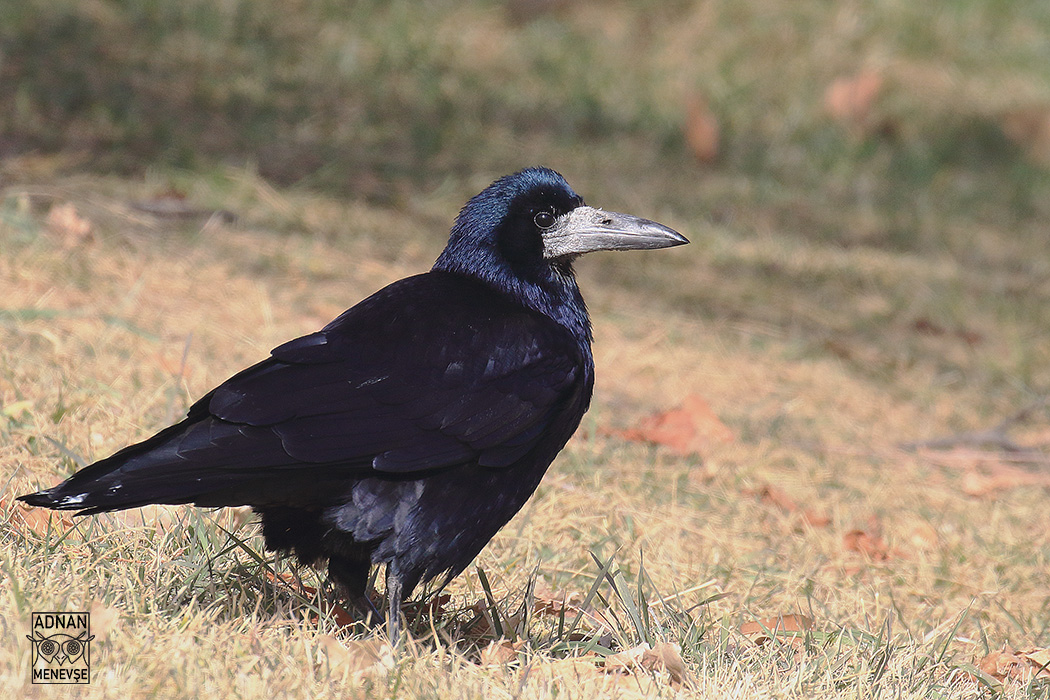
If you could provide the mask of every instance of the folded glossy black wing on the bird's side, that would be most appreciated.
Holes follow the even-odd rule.
[[[275,348],[202,403],[224,422],[269,427],[298,462],[506,467],[566,412],[579,422],[584,362],[552,320],[478,282],[428,273]]]

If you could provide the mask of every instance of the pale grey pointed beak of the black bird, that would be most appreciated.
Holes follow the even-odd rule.
[[[576,207],[543,232],[543,256],[553,259],[592,251],[639,251],[688,242],[677,231],[647,218]]]

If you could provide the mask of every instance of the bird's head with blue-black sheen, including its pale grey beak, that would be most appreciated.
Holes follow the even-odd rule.
[[[482,278],[510,272],[542,283],[571,275],[572,260],[584,253],[687,242],[655,221],[588,207],[559,173],[528,168],[501,177],[463,207],[435,269]]]

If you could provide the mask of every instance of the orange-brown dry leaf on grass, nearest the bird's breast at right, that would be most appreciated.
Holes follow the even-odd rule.
[[[609,430],[635,442],[655,443],[682,457],[702,454],[718,443],[733,442],[733,431],[722,423],[702,397],[691,394],[677,408],[644,418],[636,428]]]

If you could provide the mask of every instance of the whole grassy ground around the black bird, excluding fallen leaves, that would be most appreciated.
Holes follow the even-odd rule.
[[[24,639],[56,609],[110,619],[94,697],[1046,697],[972,667],[1050,646],[1046,487],[970,495],[994,460],[898,448],[1050,387],[1050,175],[1001,127],[1048,100],[1043,3],[279,7],[0,7],[9,695],[56,692],[28,684]],[[864,68],[886,77],[889,129],[822,111],[824,87]],[[694,91],[722,126],[714,165],[681,136]],[[64,532],[10,505],[428,268],[465,198],[534,162],[693,243],[580,263],[594,405],[382,672],[358,673],[371,651],[318,614],[322,579],[262,552],[237,513]],[[131,206],[165,192],[237,218]],[[88,238],[48,224],[64,204]],[[689,394],[732,443],[680,457],[610,434]],[[1045,453],[1047,418],[1017,440]],[[855,530],[885,555],[846,549]],[[588,609],[583,636],[574,608],[520,613],[562,595]],[[761,645],[739,632],[801,614],[812,627]],[[478,663],[497,627],[519,645]],[[561,660],[643,640],[680,644],[692,685]]]

